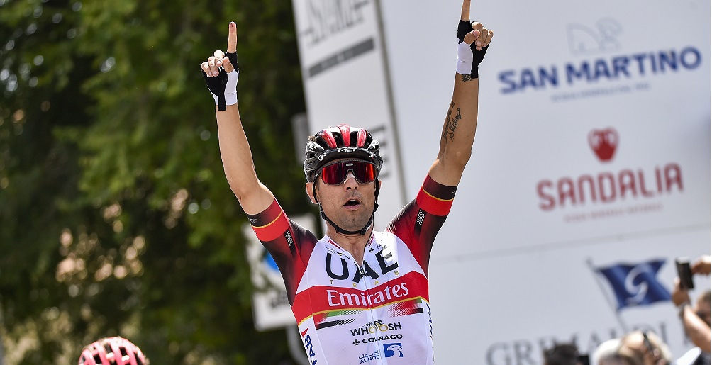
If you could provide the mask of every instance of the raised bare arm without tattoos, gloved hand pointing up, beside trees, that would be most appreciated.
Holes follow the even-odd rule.
[[[205,82],[215,99],[218,141],[225,176],[240,206],[247,214],[264,211],[274,196],[258,179],[240,120],[237,103],[237,27],[230,22],[227,53],[215,51],[201,64]]]

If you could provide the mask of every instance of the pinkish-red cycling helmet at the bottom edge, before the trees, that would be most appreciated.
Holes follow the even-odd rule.
[[[141,349],[122,337],[108,337],[88,344],[79,365],[147,365]]]

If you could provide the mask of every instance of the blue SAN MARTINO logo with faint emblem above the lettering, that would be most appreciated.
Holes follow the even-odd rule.
[[[617,39],[622,33],[621,24],[610,18],[599,21],[596,28],[570,24],[567,27],[568,46],[574,55],[611,53],[622,48]],[[556,89],[563,85],[601,86],[604,81],[643,80],[650,75],[696,70],[702,65],[702,55],[696,46],[684,46],[590,58],[562,65],[504,70],[498,79],[503,94]]]

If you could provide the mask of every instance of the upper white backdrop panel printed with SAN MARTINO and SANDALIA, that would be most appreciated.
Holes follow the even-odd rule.
[[[417,141],[402,143],[408,196],[438,151],[460,5],[381,3],[400,140]],[[708,224],[709,2],[510,5],[473,7],[496,35],[473,157],[438,236],[457,253],[436,243],[433,257]],[[530,41],[538,28],[545,44]]]

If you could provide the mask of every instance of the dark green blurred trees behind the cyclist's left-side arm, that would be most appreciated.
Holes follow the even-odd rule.
[[[11,364],[70,364],[98,337],[155,364],[288,364],[256,332],[241,226],[199,63],[239,29],[261,179],[312,211],[290,1],[0,0],[0,335]],[[279,131],[279,132],[276,132]],[[273,168],[278,166],[279,168]]]

